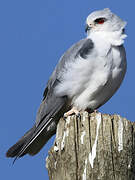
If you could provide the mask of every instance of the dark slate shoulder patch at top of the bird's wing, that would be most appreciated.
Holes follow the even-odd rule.
[[[94,47],[94,44],[91,39],[87,39],[85,43],[82,45],[82,47],[79,49],[79,51],[76,54],[76,57],[80,55],[82,58],[86,59],[87,55],[92,51]]]

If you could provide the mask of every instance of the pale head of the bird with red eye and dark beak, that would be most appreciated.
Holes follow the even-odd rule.
[[[94,11],[86,19],[86,32],[104,31],[104,32],[124,32],[126,22],[113,14],[109,8]]]

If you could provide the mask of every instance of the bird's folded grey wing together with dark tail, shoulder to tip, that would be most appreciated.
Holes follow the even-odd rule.
[[[60,96],[55,93],[55,88],[61,83],[63,72],[66,73],[65,64],[68,61],[77,61],[79,56],[86,59],[92,48],[92,41],[83,39],[62,56],[47,83],[43,101],[37,113],[36,124],[8,150],[7,157],[16,156],[16,160],[26,153],[35,155],[55,134],[58,120],[70,108],[68,94]]]

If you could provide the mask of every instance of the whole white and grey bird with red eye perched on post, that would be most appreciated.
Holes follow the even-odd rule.
[[[61,117],[93,112],[120,87],[127,69],[126,22],[109,8],[86,18],[86,37],[60,58],[50,76],[34,126],[6,152],[14,161],[34,156],[56,133]]]

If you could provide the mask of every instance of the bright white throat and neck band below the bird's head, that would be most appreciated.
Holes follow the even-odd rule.
[[[91,31],[87,38],[92,39],[93,41],[100,39],[103,41],[106,41],[107,43],[113,45],[113,46],[120,46],[124,43],[124,39],[127,37],[126,34],[122,33],[122,30],[120,31]]]

